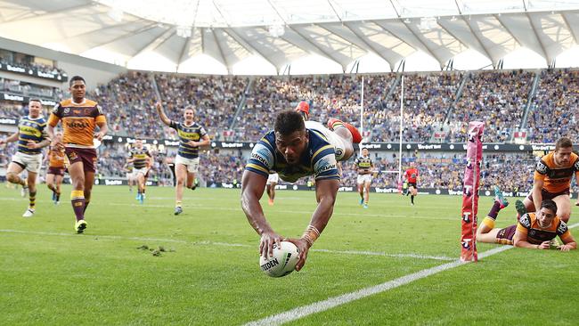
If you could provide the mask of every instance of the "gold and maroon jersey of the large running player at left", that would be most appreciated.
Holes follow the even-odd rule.
[[[106,122],[97,102],[75,103],[71,99],[60,102],[48,118],[50,126],[62,121],[62,141],[66,147],[94,148],[94,127]]]

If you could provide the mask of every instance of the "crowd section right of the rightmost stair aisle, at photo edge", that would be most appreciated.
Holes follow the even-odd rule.
[[[554,143],[579,136],[579,71],[542,70],[526,126],[531,143]]]

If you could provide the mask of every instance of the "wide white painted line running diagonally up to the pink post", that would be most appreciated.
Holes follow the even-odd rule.
[[[569,225],[570,229],[579,226],[579,223]],[[512,249],[512,246],[501,246],[494,249],[487,250],[480,255],[478,258],[485,258],[492,256],[494,254],[498,254],[502,251]],[[245,326],[271,326],[271,325],[281,325],[286,322],[291,322],[298,320],[300,318],[306,317],[310,314],[317,314],[322,313],[323,311],[329,310],[336,306],[342,306],[347,303],[350,303],[355,300],[359,300],[363,297],[370,297],[374,294],[378,294],[381,292],[385,292],[388,289],[395,289],[405,284],[411,283],[412,281],[418,281],[430,275],[434,275],[436,273],[444,272],[446,270],[452,269],[454,267],[458,267],[460,265],[468,264],[468,262],[461,262],[461,260],[455,260],[451,263],[446,263],[444,265],[438,265],[435,267],[431,267],[428,269],[421,270],[416,273],[404,275],[392,281],[387,281],[375,286],[371,286],[364,289],[359,289],[355,292],[350,292],[343,294],[338,297],[330,297],[329,299],[314,302],[313,304],[306,305],[306,306],[299,306],[295,309],[291,309],[289,311],[283,312],[281,314],[273,314],[269,317],[265,317],[264,319],[257,320],[255,322],[248,322]]]

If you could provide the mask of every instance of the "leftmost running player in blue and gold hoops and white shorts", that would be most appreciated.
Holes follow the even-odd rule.
[[[6,139],[0,139],[0,145],[4,143],[18,142],[18,151],[12,156],[12,162],[8,165],[6,179],[9,183],[22,186],[22,197],[29,195],[29,208],[22,217],[34,216],[37,203],[37,176],[42,166],[42,148],[50,144],[50,138],[46,134],[46,120],[42,117],[42,103],[40,100],[29,101],[29,115],[20,118],[18,130]],[[28,172],[26,180],[20,178],[22,171]]]

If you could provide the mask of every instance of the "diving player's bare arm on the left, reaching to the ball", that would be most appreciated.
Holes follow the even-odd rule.
[[[259,203],[264,195],[267,178],[255,172],[245,170],[241,177],[241,208],[248,218],[249,224],[261,236],[259,255],[273,257],[273,244],[280,246],[281,236],[273,232],[265,219],[264,210]]]

